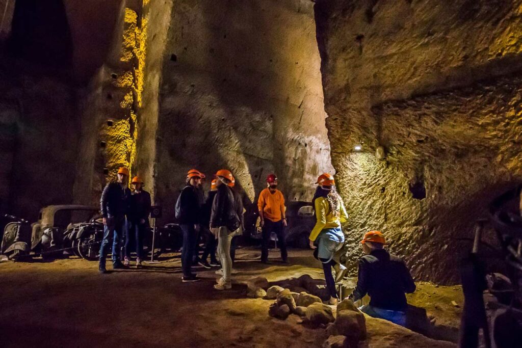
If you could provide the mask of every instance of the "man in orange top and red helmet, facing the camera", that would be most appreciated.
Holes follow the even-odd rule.
[[[275,232],[281,249],[281,259],[288,262],[286,235],[284,227],[287,226],[285,215],[284,197],[277,189],[277,176],[270,174],[266,178],[267,188],[259,194],[257,208],[259,209],[260,225],[263,229],[263,242],[261,245],[261,262],[268,263],[268,242],[270,235]]]

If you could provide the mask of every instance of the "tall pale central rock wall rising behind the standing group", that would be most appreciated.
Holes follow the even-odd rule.
[[[191,167],[228,167],[246,201],[270,172],[287,198],[310,199],[331,170],[312,5],[173,1],[156,159],[168,215]]]

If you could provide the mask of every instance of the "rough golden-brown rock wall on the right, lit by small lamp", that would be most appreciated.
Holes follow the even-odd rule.
[[[350,260],[362,234],[377,229],[418,279],[458,281],[454,238],[471,237],[491,199],[522,178],[520,79],[500,78],[521,67],[521,4],[317,2]]]

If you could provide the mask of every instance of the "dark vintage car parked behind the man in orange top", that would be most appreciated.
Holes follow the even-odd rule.
[[[311,202],[291,201],[287,203],[287,244],[295,248],[307,248],[308,236],[315,224],[314,209]],[[257,205],[248,206],[245,215],[245,235],[253,239],[261,239],[261,226],[259,225],[259,212]],[[276,240],[272,234],[272,241]]]

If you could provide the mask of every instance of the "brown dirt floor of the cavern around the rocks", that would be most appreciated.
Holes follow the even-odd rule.
[[[200,282],[182,283],[177,255],[162,256],[159,262],[143,269],[109,274],[99,274],[96,262],[76,258],[2,262],[0,340],[3,347],[321,346],[326,339],[324,329],[306,328],[295,315],[284,321],[271,318],[268,307],[273,301],[246,298],[242,282],[253,277],[263,276],[269,281],[302,274],[321,277],[309,250],[292,251],[289,265],[271,254],[272,265],[264,265],[255,260],[259,257],[257,250],[239,249],[235,268],[240,273],[234,278],[232,290],[223,292],[212,289],[217,278],[215,269],[198,270],[204,278]],[[432,307],[433,311],[440,310],[438,317],[447,321],[456,314],[450,311],[453,305],[446,307],[454,295],[450,295],[451,299],[447,294],[436,298],[431,292],[438,289],[441,287],[420,284],[417,304],[427,303],[428,299],[444,304]],[[366,320],[369,338],[361,342],[362,347],[455,346],[384,320]],[[453,320],[458,322],[458,318]]]

